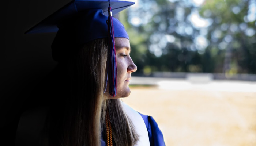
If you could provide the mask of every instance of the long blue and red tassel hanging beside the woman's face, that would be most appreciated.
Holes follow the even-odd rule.
[[[110,96],[115,97],[117,93],[117,66],[116,66],[116,47],[115,47],[115,40],[114,40],[114,26],[113,26],[113,19],[112,19],[112,8],[110,7],[110,0],[109,0],[109,7],[108,7],[108,71],[109,71],[109,94]]]

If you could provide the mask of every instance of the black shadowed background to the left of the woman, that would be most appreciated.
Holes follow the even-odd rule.
[[[31,96],[43,78],[56,66],[51,55],[55,33],[24,34],[70,0],[14,0],[1,4],[0,128],[1,143],[15,144],[19,116],[39,101]],[[47,84],[45,84],[47,85]],[[43,92],[43,91],[42,91]],[[31,101],[33,99],[33,101]],[[26,107],[25,107],[26,106]]]

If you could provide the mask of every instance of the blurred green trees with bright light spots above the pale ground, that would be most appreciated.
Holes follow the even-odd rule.
[[[255,74],[255,9],[255,0],[139,0],[120,18],[138,73]]]

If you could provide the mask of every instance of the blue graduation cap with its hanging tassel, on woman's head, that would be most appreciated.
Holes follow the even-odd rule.
[[[127,38],[128,34],[119,20],[112,18],[133,5],[129,1],[74,0],[30,28],[25,34],[57,32],[52,43],[52,57],[56,61],[67,59],[79,44],[108,38],[109,93],[117,93],[117,67],[114,37]]]

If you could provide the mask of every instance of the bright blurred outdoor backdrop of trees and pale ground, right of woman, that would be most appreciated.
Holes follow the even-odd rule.
[[[256,0],[135,0],[123,99],[167,146],[256,146]]]

